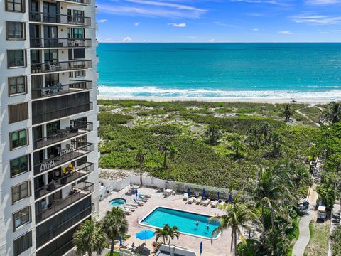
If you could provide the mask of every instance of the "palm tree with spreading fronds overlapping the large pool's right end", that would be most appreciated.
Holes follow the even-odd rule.
[[[242,193],[239,192],[234,196],[234,201],[223,206],[218,206],[224,210],[226,215],[211,217],[210,221],[219,221],[220,226],[212,231],[212,238],[223,232],[227,228],[232,229],[231,252],[237,255],[237,238],[240,236],[242,242],[246,242],[242,228],[247,228],[247,223],[251,220],[257,220],[259,213],[256,208],[251,207],[251,203],[242,201]]]

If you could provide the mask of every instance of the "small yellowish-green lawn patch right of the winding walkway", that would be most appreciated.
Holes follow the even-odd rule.
[[[328,255],[328,242],[330,221],[324,223],[316,223],[312,220],[309,224],[310,240],[305,248],[305,256],[322,256]]]

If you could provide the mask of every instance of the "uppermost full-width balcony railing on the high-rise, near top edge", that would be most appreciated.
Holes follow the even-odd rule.
[[[91,18],[82,16],[71,16],[65,14],[49,14],[44,12],[30,12],[30,21],[45,23],[72,24],[80,26],[90,26]]]

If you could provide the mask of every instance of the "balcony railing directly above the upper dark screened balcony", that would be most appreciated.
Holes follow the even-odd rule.
[[[65,95],[72,92],[81,92],[92,89],[92,81],[72,80],[67,85],[55,85],[50,87],[39,87],[32,89],[32,99],[40,99],[43,97],[51,97],[55,95]]]

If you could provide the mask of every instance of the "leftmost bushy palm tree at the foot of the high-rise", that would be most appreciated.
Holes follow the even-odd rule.
[[[107,236],[102,229],[102,223],[94,220],[85,220],[80,224],[80,228],[73,234],[73,245],[76,247],[77,255],[91,256],[92,252],[101,254],[107,246]]]

